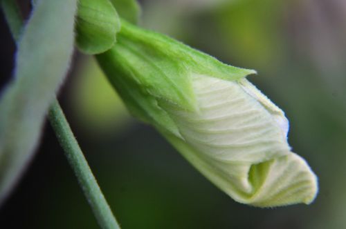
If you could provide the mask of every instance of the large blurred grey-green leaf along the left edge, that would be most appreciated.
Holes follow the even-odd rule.
[[[76,9],[76,0],[37,1],[24,28],[15,79],[0,101],[0,202],[33,156],[48,106],[69,68]]]

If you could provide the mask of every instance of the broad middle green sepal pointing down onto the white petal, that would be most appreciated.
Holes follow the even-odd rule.
[[[126,24],[119,32],[118,43],[112,48],[112,61],[124,62],[125,59],[126,68],[131,70],[127,77],[156,99],[194,110],[195,99],[189,79],[191,72],[185,65],[183,53],[179,52],[173,58],[169,43],[140,39],[138,36],[141,35],[133,31],[137,28],[131,26],[129,29],[130,24]],[[140,32],[144,35],[145,31]]]

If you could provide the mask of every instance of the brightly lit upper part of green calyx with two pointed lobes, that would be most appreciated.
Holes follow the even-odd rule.
[[[228,66],[179,41],[126,21],[122,21],[114,52],[114,58],[127,59],[132,72],[129,77],[149,94],[186,110],[196,109],[190,82],[192,74],[237,80],[255,72]]]

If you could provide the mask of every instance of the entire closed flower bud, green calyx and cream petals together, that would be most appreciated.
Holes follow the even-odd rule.
[[[254,70],[125,21],[97,59],[130,112],[236,201],[268,207],[316,197],[316,176],[286,141],[284,112],[245,79]]]

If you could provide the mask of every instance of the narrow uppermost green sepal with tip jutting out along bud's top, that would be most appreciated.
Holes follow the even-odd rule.
[[[234,81],[242,79],[248,74],[255,74],[255,70],[238,68],[222,63],[204,52],[191,48],[179,41],[167,37],[158,32],[152,32],[131,25],[122,20],[122,28],[119,33],[125,41],[132,41],[138,45],[145,46],[145,50],[162,52],[170,61],[180,62],[189,72],[205,74],[210,77]],[[122,38],[121,38],[122,39]],[[147,55],[147,54],[146,54]]]

